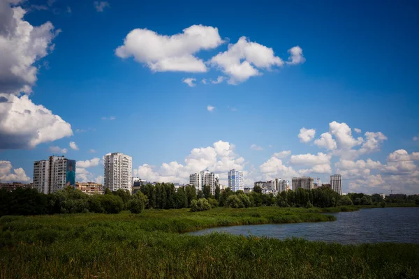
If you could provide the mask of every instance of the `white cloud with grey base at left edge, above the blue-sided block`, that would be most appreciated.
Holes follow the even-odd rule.
[[[3,97],[8,101],[0,103],[0,149],[34,148],[73,135],[69,123],[28,96]]]

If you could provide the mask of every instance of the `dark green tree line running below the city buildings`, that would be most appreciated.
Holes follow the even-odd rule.
[[[210,186],[196,191],[195,186],[175,189],[172,183],[147,183],[134,195],[127,190],[112,192],[105,190],[105,195],[86,195],[80,190],[67,187],[51,194],[38,193],[34,188],[17,188],[13,191],[0,189],[0,216],[4,215],[39,215],[56,213],[119,213],[129,210],[140,213],[144,209],[183,209],[202,211],[216,206],[243,208],[251,206],[281,207],[335,207],[347,205],[381,205],[386,203],[416,203],[416,195],[395,195],[383,200],[378,194],[365,195],[349,193],[339,195],[330,188],[288,190],[277,195],[263,194],[259,186],[251,193],[242,190],[233,192],[230,188],[223,191],[216,186],[214,195]]]

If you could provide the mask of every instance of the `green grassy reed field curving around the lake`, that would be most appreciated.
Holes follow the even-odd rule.
[[[262,206],[3,216],[0,278],[419,278],[419,245],[182,234],[224,225],[335,220],[318,212]]]

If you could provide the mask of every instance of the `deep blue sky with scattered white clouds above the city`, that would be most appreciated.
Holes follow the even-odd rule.
[[[103,156],[188,183],[419,193],[416,1],[0,0],[0,182]]]

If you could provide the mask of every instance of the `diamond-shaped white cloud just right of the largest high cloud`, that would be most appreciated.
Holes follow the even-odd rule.
[[[228,50],[212,57],[210,63],[219,67],[230,77],[228,83],[244,82],[249,77],[261,75],[258,68],[270,69],[283,66],[284,61],[274,55],[274,50],[241,37],[237,43],[228,45]]]

